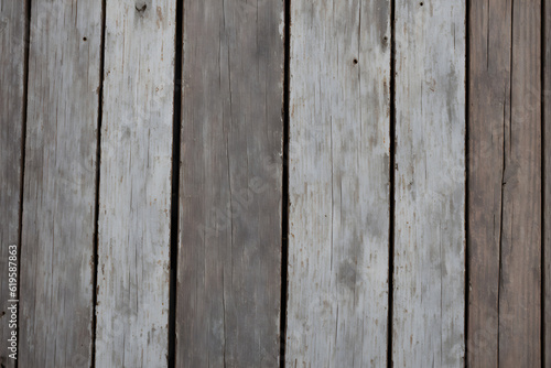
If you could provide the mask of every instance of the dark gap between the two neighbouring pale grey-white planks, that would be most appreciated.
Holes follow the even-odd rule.
[[[395,278],[395,165],[396,165],[396,0],[390,1],[390,165],[389,170],[389,257],[388,257],[388,322],[387,367],[392,368],[392,318]]]

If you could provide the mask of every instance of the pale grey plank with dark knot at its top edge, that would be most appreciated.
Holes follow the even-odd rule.
[[[97,367],[166,367],[175,0],[108,1]]]

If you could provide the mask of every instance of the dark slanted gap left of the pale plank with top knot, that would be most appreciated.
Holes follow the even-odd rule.
[[[104,113],[104,65],[105,65],[105,32],[106,32],[106,0],[101,0],[101,41],[99,43],[99,91],[98,91],[98,123],[96,143],[96,208],[94,210],[94,271],[91,290],[91,357],[90,366],[96,367],[96,332],[98,304],[98,219],[99,219],[99,173],[101,162],[101,122]]]

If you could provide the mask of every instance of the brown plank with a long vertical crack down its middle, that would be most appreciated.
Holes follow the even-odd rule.
[[[541,364],[541,3],[471,8],[469,367]]]

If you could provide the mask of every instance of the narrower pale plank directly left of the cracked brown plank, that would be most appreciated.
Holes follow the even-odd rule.
[[[466,1],[396,2],[395,367],[464,365]]]

